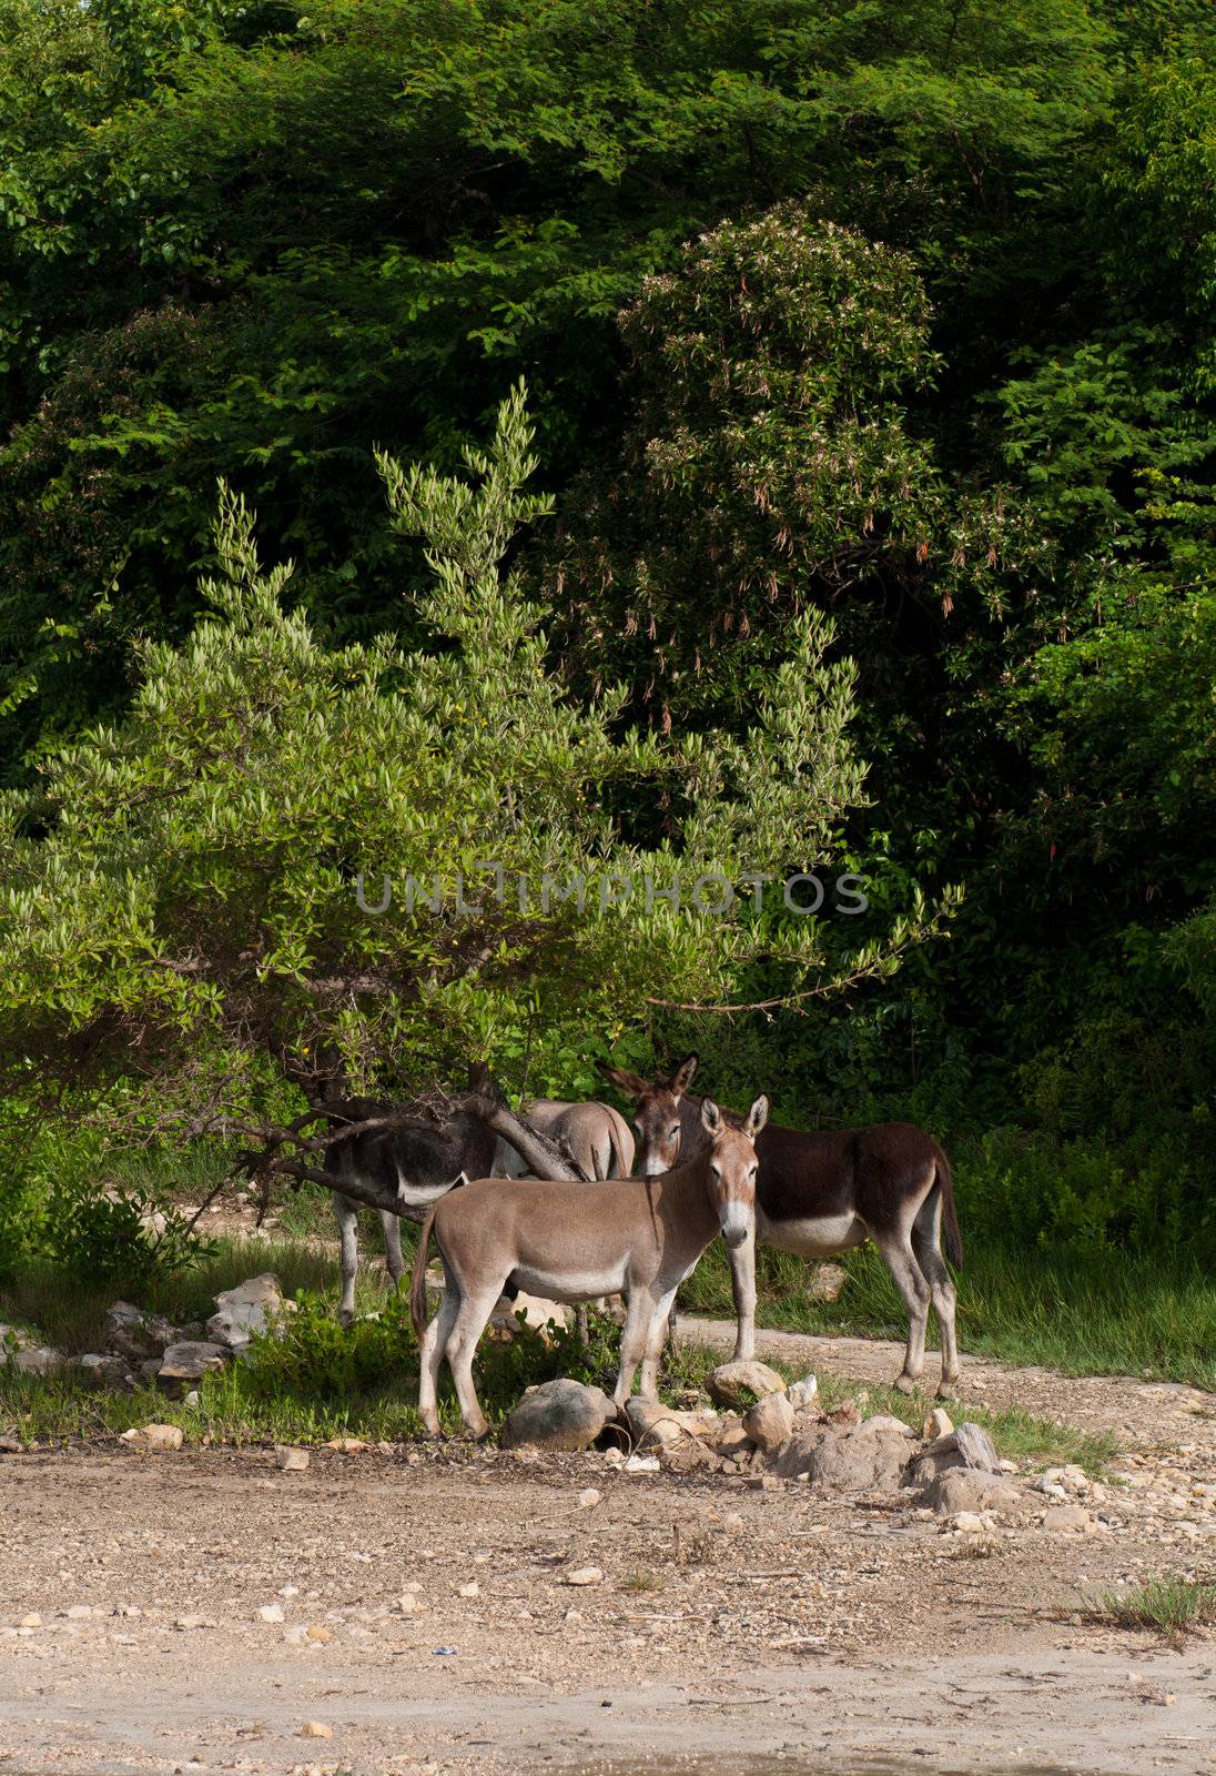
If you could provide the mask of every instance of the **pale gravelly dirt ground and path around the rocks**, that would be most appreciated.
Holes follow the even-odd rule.
[[[4,1455],[0,1772],[1216,1772],[1216,1637],[1085,1613],[1216,1579],[1216,1396],[967,1362],[966,1398],[1113,1431],[1101,1533],[595,1453]]]

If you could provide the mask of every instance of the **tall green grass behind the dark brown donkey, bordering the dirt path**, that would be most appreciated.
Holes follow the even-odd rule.
[[[873,1247],[847,1252],[838,1302],[811,1302],[811,1266],[756,1252],[756,1320],[827,1337],[907,1336],[895,1282]],[[1189,1257],[1083,1256],[973,1240],[959,1273],[959,1343],[982,1357],[1063,1375],[1134,1375],[1216,1389],[1216,1288]],[[715,1241],[680,1291],[687,1312],[733,1312],[730,1268]]]

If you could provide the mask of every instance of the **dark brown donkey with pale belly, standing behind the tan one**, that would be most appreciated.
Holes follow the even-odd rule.
[[[669,1080],[600,1071],[634,1099],[637,1170],[659,1177],[703,1140],[701,1099],[689,1096],[696,1055]],[[731,1112],[724,1112],[737,1121]],[[907,1307],[907,1352],[895,1385],[911,1394],[925,1369],[928,1309],[941,1325],[943,1399],[959,1380],[955,1286],[941,1256],[941,1236],[953,1265],[962,1265],[950,1162],[937,1142],[911,1122],[875,1122],[833,1133],[809,1133],[769,1122],[756,1137],[756,1240],[779,1252],[824,1257],[873,1240]],[[751,1240],[730,1250],[738,1336],[735,1357],[756,1350],[756,1249]]]

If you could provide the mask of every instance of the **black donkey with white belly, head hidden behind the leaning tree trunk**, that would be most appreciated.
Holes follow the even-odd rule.
[[[339,1318],[355,1318],[355,1277],[359,1275],[359,1204],[343,1195],[343,1177],[362,1177],[407,1204],[410,1220],[422,1220],[431,1204],[446,1195],[460,1172],[474,1177],[490,1170],[499,1137],[481,1117],[460,1110],[446,1128],[403,1128],[392,1133],[357,1135],[325,1149],[325,1170],[336,1179],[334,1215],[343,1240],[343,1300]],[[380,1209],[383,1250],[394,1289],[405,1275],[401,1256],[401,1220]]]

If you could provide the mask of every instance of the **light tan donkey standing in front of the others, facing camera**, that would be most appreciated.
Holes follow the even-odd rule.
[[[460,1412],[474,1437],[488,1423],[472,1384],[472,1355],[508,1284],[559,1302],[625,1296],[614,1399],[628,1399],[641,1360],[641,1391],[659,1385],[667,1312],[683,1279],[721,1231],[728,1247],[754,1243],[756,1137],[767,1098],[735,1128],[708,1098],[698,1110],[699,1149],[660,1183],[614,1177],[600,1185],[481,1177],[442,1197],[422,1222],[410,1312],[421,1344],[419,1412],[438,1435],[435,1392],[447,1364]],[[738,1119],[735,1119],[738,1122]],[[426,1325],[426,1252],[431,1233],[444,1263],[444,1300]]]

